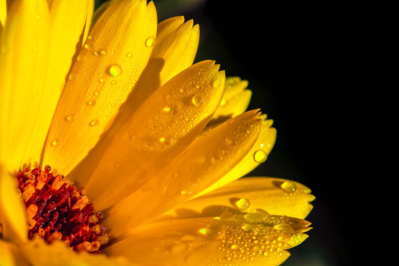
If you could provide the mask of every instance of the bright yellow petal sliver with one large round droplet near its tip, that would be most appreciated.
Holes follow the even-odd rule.
[[[263,114],[261,117],[263,118],[261,133],[259,134],[259,137],[253,145],[251,151],[249,151],[249,153],[245,155],[244,159],[242,159],[241,162],[239,162],[229,173],[227,173],[215,184],[199,193],[196,197],[205,195],[214,189],[222,187],[232,181],[239,179],[240,177],[243,177],[255,169],[255,167],[257,167],[259,164],[266,161],[267,155],[270,153],[276,141],[276,129],[271,127],[273,120],[265,120],[265,114]]]

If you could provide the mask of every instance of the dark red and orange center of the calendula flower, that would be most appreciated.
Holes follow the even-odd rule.
[[[49,165],[44,171],[40,166],[28,167],[16,178],[26,207],[29,239],[40,236],[49,244],[63,240],[78,252],[100,252],[108,242],[105,226],[98,224],[103,214],[93,213],[84,190],[50,171]]]

